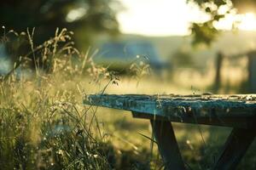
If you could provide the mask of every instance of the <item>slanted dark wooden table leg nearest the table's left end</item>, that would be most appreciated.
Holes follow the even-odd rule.
[[[185,169],[171,122],[150,120],[166,169]]]

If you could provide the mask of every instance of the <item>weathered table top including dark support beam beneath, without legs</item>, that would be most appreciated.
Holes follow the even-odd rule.
[[[227,127],[251,127],[256,116],[256,94],[94,94],[86,97],[84,104],[132,111],[141,118]]]

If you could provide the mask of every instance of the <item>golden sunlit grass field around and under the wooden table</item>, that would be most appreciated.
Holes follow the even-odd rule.
[[[117,77],[81,54],[66,30],[19,59],[0,82],[1,169],[164,169],[151,144],[149,122],[128,111],[83,105],[85,95],[202,94],[206,75],[177,71],[172,77]],[[31,37],[29,31],[27,37]],[[42,61],[37,60],[37,56]],[[29,58],[31,57],[31,58]],[[29,65],[34,63],[31,74]],[[26,74],[22,74],[26,70]],[[183,160],[209,169],[230,128],[174,123]],[[143,135],[142,135],[143,134]],[[148,136],[148,138],[145,138]],[[256,168],[253,143],[239,169]]]

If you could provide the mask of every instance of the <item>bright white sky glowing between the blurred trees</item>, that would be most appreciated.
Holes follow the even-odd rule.
[[[207,14],[186,0],[119,0],[125,10],[118,14],[120,31],[145,36],[189,35],[189,23],[207,20]],[[234,20],[241,20],[239,29],[256,30],[253,13],[234,15],[216,26],[230,30]]]

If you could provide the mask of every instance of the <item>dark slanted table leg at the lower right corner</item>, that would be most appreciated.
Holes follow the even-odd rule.
[[[254,129],[233,128],[213,169],[235,169],[255,137]]]

